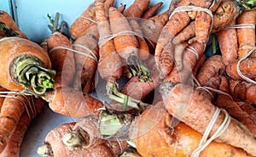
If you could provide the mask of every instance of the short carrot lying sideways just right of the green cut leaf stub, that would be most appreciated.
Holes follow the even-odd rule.
[[[71,87],[57,87],[43,98],[49,103],[49,108],[56,113],[74,118],[83,118],[91,113],[97,114],[97,109],[103,107],[100,100]]]

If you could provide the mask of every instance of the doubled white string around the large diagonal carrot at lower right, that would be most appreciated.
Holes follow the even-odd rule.
[[[212,127],[214,126],[215,122],[218,120],[218,115],[219,115],[220,111],[224,112],[224,115],[225,115],[224,121],[218,127],[218,130],[213,133],[212,137],[208,138],[209,134],[212,130]],[[193,153],[191,154],[191,157],[198,157],[203,149],[207,148],[207,146],[214,139],[216,139],[217,137],[222,135],[226,131],[226,129],[230,126],[230,121],[231,121],[231,117],[225,109],[216,108],[214,114],[212,115],[212,120],[210,121],[209,125],[207,126],[206,131],[204,132],[203,136],[201,137],[201,142],[199,143],[199,146],[197,147],[197,149],[195,149],[193,151]]]

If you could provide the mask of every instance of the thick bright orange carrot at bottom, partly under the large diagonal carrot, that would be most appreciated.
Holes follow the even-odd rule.
[[[174,119],[168,114],[160,102],[145,110],[132,126],[132,142],[142,156],[191,156],[198,147],[202,135],[183,122],[171,127]],[[150,144],[148,144],[150,143]],[[200,156],[250,156],[242,149],[237,149],[226,143],[212,141],[201,151]]]

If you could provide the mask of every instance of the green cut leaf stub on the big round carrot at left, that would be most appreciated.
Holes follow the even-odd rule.
[[[36,94],[54,87],[55,70],[44,68],[39,59],[30,55],[17,56],[10,66],[10,73],[15,82]]]

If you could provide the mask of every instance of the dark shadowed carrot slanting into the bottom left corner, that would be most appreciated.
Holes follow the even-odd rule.
[[[15,131],[12,133],[5,149],[0,154],[1,157],[20,156],[21,143],[26,135],[28,126],[32,119],[42,111],[45,104],[44,100],[41,98],[32,98],[32,101],[34,101],[35,109],[32,112],[30,111],[29,115],[27,115],[27,112],[23,112],[20,116],[20,121],[18,122]]]

